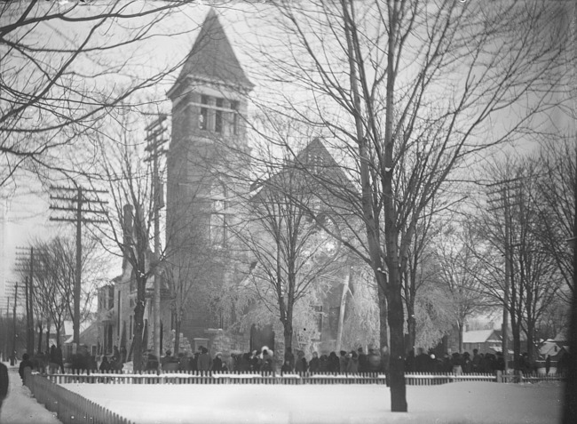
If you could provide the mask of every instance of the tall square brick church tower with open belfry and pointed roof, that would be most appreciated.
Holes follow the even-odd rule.
[[[247,150],[243,116],[253,86],[217,12],[210,9],[168,92],[172,137],[167,156],[167,262],[173,266],[172,278],[193,285],[191,292],[209,289],[225,277],[222,270],[218,275],[209,269],[210,261],[202,255],[226,249],[233,181],[224,166],[230,167],[239,152]],[[200,275],[206,281],[194,281]],[[181,330],[189,339],[222,325],[200,295],[192,296],[199,304],[187,305]]]

